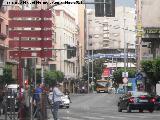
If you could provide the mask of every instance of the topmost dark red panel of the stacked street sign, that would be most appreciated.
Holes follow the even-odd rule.
[[[39,18],[51,18],[51,10],[9,10],[10,18],[21,17],[39,17]]]

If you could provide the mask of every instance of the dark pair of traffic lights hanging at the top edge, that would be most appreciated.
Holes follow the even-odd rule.
[[[115,17],[115,0],[94,0],[96,17]]]

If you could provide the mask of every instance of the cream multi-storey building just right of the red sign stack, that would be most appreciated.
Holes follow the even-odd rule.
[[[75,18],[63,8],[55,9],[56,13],[56,70],[64,73],[64,89],[74,90],[76,79],[76,23]]]

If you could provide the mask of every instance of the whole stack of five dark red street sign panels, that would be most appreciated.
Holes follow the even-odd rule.
[[[21,52],[17,50],[9,51],[10,57],[52,57],[52,50],[41,51],[44,48],[52,48],[52,41],[45,38],[52,37],[52,21],[45,18],[51,18],[51,10],[10,10],[9,11],[9,37],[13,40],[9,41],[9,48],[21,47]],[[19,18],[17,20],[17,18]],[[25,18],[25,20],[24,20]],[[38,19],[37,19],[38,18]],[[17,30],[17,28],[19,30]],[[24,29],[29,28],[29,30]],[[36,28],[41,28],[37,30]],[[19,38],[41,38],[41,40],[23,40]],[[20,46],[19,46],[20,45]],[[41,48],[39,51],[24,51],[23,48]]]

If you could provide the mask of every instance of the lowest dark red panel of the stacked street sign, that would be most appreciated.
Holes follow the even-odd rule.
[[[10,58],[18,58],[21,55],[22,58],[30,58],[30,57],[52,57],[52,50],[47,51],[9,51]]]

